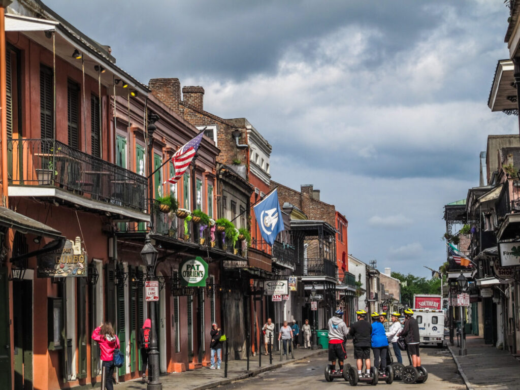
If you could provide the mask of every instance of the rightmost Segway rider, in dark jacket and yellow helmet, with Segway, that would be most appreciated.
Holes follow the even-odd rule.
[[[402,380],[405,383],[423,383],[428,379],[428,372],[421,366],[419,352],[419,323],[413,318],[413,310],[405,309],[405,328],[399,336],[404,337],[406,342],[406,353],[410,366],[402,370]]]

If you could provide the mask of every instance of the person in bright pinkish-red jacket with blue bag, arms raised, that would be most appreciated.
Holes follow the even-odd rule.
[[[102,322],[92,332],[92,340],[97,341],[101,349],[101,390],[114,390],[114,363],[113,353],[115,348],[119,348],[119,339],[115,335],[112,323]]]

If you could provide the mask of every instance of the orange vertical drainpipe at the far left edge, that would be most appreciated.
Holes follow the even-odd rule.
[[[7,89],[6,89],[6,42],[5,42],[5,9],[11,0],[0,1],[0,143],[2,144],[2,202],[8,206],[7,177]]]

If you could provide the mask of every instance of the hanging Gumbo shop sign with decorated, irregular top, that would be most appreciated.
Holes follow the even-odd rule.
[[[59,240],[49,242],[43,249],[54,246]],[[38,278],[66,278],[87,276],[87,254],[81,248],[81,239],[62,240],[54,251],[36,256]]]

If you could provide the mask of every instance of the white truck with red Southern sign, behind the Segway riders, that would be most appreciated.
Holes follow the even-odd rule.
[[[444,342],[444,310],[443,298],[440,295],[416,294],[413,296],[414,317],[419,324],[419,341],[436,343]]]

